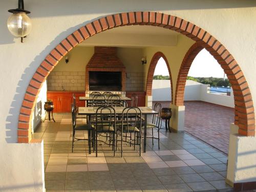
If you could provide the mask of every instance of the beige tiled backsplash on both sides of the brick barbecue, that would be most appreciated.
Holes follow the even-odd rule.
[[[52,71],[47,78],[48,91],[84,91],[85,72]],[[126,91],[142,91],[144,73],[127,73]]]

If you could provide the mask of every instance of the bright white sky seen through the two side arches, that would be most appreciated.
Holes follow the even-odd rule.
[[[172,62],[172,61],[169,61]],[[154,75],[169,75],[163,58],[160,58]],[[194,59],[188,76],[191,77],[219,77],[223,78],[224,71],[217,60],[210,53],[203,49]]]

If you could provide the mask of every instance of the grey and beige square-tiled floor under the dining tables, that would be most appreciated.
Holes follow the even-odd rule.
[[[77,141],[71,152],[71,114],[54,118],[33,135],[44,139],[47,191],[232,191],[225,184],[227,157],[186,133],[161,130],[160,150],[148,139],[141,157],[126,144],[123,158],[119,150],[113,157],[111,147],[102,144],[96,158],[88,154],[87,141]]]

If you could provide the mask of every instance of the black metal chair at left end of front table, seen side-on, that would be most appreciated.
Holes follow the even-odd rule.
[[[89,154],[91,154],[91,143],[94,148],[94,129],[90,124],[83,124],[83,125],[76,125],[76,110],[75,106],[72,103],[71,104],[71,111],[72,111],[72,126],[73,126],[73,139],[72,139],[72,153],[74,149],[74,142],[79,141],[79,140],[88,140],[88,145],[89,145]],[[76,131],[88,131],[88,139],[78,139],[75,137]]]

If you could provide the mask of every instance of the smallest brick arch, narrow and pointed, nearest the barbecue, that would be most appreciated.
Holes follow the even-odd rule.
[[[146,95],[147,96],[151,96],[152,95],[152,83],[153,83],[153,76],[154,76],[154,72],[157,66],[157,62],[160,58],[163,58],[166,66],[168,68],[168,72],[169,72],[169,76],[170,76],[170,88],[171,88],[171,99],[172,99],[172,103],[173,103],[173,81],[172,81],[172,74],[170,73],[170,67],[169,67],[169,63],[168,60],[166,59],[165,55],[162,52],[157,52],[153,55],[151,62],[150,62],[150,67],[148,68],[148,72],[147,72],[147,78],[146,78]]]

